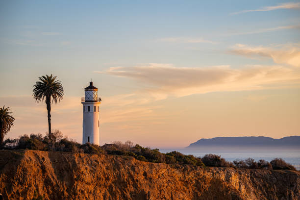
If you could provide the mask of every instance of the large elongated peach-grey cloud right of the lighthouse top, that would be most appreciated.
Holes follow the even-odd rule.
[[[134,78],[149,84],[143,90],[156,100],[217,91],[266,89],[272,84],[299,84],[300,71],[282,66],[177,68],[171,64],[109,68],[100,74]]]

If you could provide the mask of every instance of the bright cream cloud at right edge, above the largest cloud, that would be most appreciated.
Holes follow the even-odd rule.
[[[244,56],[263,56],[269,57],[275,63],[288,64],[295,67],[300,67],[300,45],[280,45],[276,47],[251,47],[244,44],[236,44],[230,52]]]

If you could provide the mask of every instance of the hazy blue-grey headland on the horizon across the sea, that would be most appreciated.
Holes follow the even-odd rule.
[[[283,137],[274,139],[271,137],[215,137],[200,139],[186,148],[201,146],[299,146],[300,136]]]

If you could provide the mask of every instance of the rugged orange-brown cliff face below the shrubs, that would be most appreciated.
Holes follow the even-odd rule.
[[[0,150],[0,193],[11,200],[300,200],[300,172]]]

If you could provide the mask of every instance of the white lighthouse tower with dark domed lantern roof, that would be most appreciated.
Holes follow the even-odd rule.
[[[82,122],[82,144],[87,142],[99,145],[99,106],[101,99],[98,97],[98,88],[90,82],[90,85],[84,88],[84,97],[81,98],[83,105]]]

